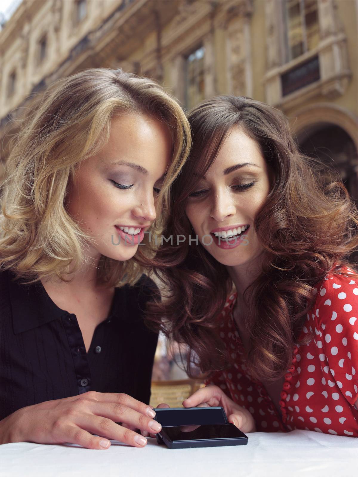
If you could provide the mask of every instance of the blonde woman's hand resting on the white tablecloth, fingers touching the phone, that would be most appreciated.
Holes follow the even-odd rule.
[[[127,394],[89,391],[15,411],[1,421],[0,443],[69,442],[88,449],[106,449],[110,446],[108,439],[114,439],[143,447],[147,439],[134,429],[159,432],[161,425],[152,419],[154,416],[150,406]]]

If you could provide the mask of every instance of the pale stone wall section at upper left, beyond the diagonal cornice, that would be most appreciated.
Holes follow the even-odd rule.
[[[34,86],[68,58],[72,48],[86,33],[98,27],[121,0],[90,0],[87,15],[75,28],[74,1],[26,0],[1,32],[1,118],[18,106]],[[47,56],[36,60],[38,41],[47,34]],[[12,71],[17,73],[16,94],[7,95]]]

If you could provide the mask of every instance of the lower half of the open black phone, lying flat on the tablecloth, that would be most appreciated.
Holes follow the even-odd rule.
[[[157,441],[169,449],[244,446],[248,442],[248,437],[233,424],[163,427],[157,436]]]

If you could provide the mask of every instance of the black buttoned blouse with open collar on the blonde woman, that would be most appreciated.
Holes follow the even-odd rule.
[[[146,275],[116,288],[86,353],[76,315],[55,305],[41,281],[24,285],[12,271],[1,271],[0,419],[90,390],[126,393],[148,404],[158,334],[143,316],[156,290]]]

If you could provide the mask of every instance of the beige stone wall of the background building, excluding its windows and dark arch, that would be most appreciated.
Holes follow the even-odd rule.
[[[1,133],[5,125],[16,126],[5,118],[12,112],[16,119],[16,108],[28,104],[34,88],[41,91],[56,78],[91,66],[121,66],[153,76],[184,105],[185,57],[203,44],[206,97],[252,96],[283,109],[297,133],[313,117],[329,117],[353,135],[358,113],[357,2],[318,4],[322,78],[283,98],[280,75],[302,58],[284,62],[282,1],[88,0],[78,25],[74,0],[23,1],[1,32]],[[47,57],[37,64],[44,34]],[[9,97],[14,70],[16,93]],[[2,157],[7,154],[5,140]]]

